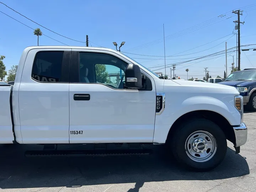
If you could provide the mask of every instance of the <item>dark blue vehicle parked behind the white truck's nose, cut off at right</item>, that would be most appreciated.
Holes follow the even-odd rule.
[[[236,87],[244,98],[246,108],[256,111],[256,69],[235,71],[219,84]]]

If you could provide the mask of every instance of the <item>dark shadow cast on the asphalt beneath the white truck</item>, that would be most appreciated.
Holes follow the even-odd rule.
[[[250,173],[246,158],[230,148],[221,165],[197,173],[177,166],[159,147],[149,156],[26,158],[23,155],[25,150],[34,148],[32,145],[0,146],[1,189],[136,183],[129,192],[138,192],[145,182],[220,180]]]

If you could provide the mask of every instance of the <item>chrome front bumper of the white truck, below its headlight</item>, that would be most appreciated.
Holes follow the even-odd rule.
[[[241,145],[244,145],[247,141],[247,127],[245,123],[242,123],[238,127],[233,127],[234,132],[235,132],[235,148],[240,147]]]

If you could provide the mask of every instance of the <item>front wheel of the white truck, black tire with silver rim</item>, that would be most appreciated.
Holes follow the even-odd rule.
[[[196,137],[197,135],[199,136]],[[206,135],[208,136],[206,137]],[[203,139],[205,143],[202,143],[203,141],[199,138]],[[171,142],[169,144],[171,146],[169,147],[174,158],[181,166],[193,171],[214,169],[223,161],[226,155],[227,142],[225,134],[217,124],[207,119],[193,119],[177,127],[170,139]],[[195,142],[196,139],[198,144]],[[193,146],[193,143],[196,143],[197,146]],[[196,150],[202,149],[203,145],[206,148],[203,148],[198,153]],[[196,148],[193,149],[194,147]],[[206,156],[206,158],[203,158],[203,156]]]

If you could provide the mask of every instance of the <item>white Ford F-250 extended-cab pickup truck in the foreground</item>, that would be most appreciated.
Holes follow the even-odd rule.
[[[247,140],[235,87],[160,79],[107,48],[26,48],[0,85],[1,144],[165,144],[182,166],[210,170],[228,139]]]

